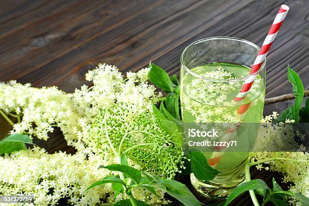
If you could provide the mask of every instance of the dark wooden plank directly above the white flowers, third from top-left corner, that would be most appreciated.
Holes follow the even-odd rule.
[[[34,71],[33,74],[26,75],[20,80],[22,82],[27,82],[31,79],[32,83],[40,86],[38,81],[44,82],[45,85],[57,85],[55,79],[60,78],[59,81],[62,82],[61,87],[68,88],[68,85],[65,85],[65,83],[71,84],[72,80],[68,80],[66,77],[74,78],[73,81],[82,78],[78,76],[73,77],[72,73],[77,73],[78,70],[80,72],[81,67],[87,65],[88,62],[107,62],[116,65],[120,63],[120,66],[129,60],[131,62],[136,62],[139,58],[143,58],[142,56],[151,53],[151,49],[155,49],[152,47],[165,45],[171,41],[171,37],[177,39],[181,35],[184,35],[186,31],[192,32],[193,28],[205,21],[207,22],[208,19],[202,18],[203,11],[209,12],[214,18],[217,18],[218,15],[224,16],[222,11],[233,6],[234,1],[230,1],[230,3],[226,5],[222,4],[223,2],[224,1],[218,2],[218,5],[214,5],[221,9],[215,12],[209,7],[210,4],[208,2],[196,4],[185,2],[183,4],[176,4],[175,2],[168,1],[160,7],[153,8],[149,12],[126,22],[126,24],[96,37],[86,45],[74,49],[69,54],[63,55],[57,60],[44,65],[39,70]],[[188,7],[189,5],[191,6]],[[184,10],[186,7],[188,7],[188,9]],[[169,12],[166,12],[167,9],[164,8],[169,8]],[[192,15],[185,21],[184,19],[186,19],[187,13]],[[162,21],[164,18],[167,20]],[[197,20],[202,21],[198,22]],[[194,21],[197,23],[189,27],[184,26],[184,23],[190,25],[190,23]],[[161,28],[164,26],[166,26],[167,29],[163,32]],[[170,31],[170,33],[167,33],[168,31]],[[115,38],[115,36],[117,36],[117,38]],[[173,42],[177,43],[176,41]],[[147,62],[148,61],[149,60],[147,60]],[[82,68],[83,71],[87,69],[89,69],[89,67]],[[36,79],[33,79],[33,77]],[[49,79],[52,81],[50,82]]]

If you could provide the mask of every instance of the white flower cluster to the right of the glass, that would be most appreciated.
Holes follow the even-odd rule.
[[[287,123],[293,123],[294,120],[286,120],[285,123],[278,123],[276,125],[270,124],[276,119],[278,114],[273,112],[272,115],[263,118],[263,129],[260,129],[257,142],[263,142],[263,145],[273,145],[273,142],[282,143],[278,145],[280,147],[298,148],[300,151],[285,152],[252,152],[250,154],[251,162],[257,162],[266,159],[277,158],[275,161],[266,162],[264,165],[256,165],[258,170],[270,170],[276,171],[283,175],[284,183],[291,183],[290,190],[298,193],[302,193],[306,197],[309,197],[309,153],[305,151],[302,145],[297,145],[294,136],[298,136],[300,139],[304,138],[303,135],[298,132],[293,132],[292,127]],[[259,145],[258,145],[259,146]],[[261,145],[260,145],[261,146]],[[297,146],[297,147],[296,147]],[[301,151],[303,150],[303,151]],[[299,204],[295,199],[291,199],[290,203]]]

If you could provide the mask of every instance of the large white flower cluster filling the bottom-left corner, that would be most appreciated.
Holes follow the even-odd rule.
[[[56,205],[66,200],[73,205],[93,205],[111,201],[111,186],[96,187],[85,192],[93,182],[110,175],[98,170],[99,156],[54,153],[43,149],[21,150],[0,158],[0,194],[34,195],[35,205]],[[101,199],[100,199],[101,198]]]

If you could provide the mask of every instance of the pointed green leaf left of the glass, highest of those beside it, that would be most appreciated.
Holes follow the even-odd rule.
[[[172,81],[170,79],[169,74],[164,71],[158,65],[153,63],[149,63],[150,71],[148,73],[149,81],[152,84],[155,84],[160,89],[164,91],[171,92],[173,91]]]

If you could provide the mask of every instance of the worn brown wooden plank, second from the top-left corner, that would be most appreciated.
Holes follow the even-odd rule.
[[[149,6],[156,4],[161,2],[151,4],[149,1]],[[105,33],[119,23],[123,24],[135,15],[147,12],[142,8],[143,5],[138,2],[133,2],[128,7],[123,7],[121,1],[114,1],[113,4],[108,1],[80,4],[38,19],[12,35],[0,38],[0,52],[3,54],[0,57],[0,80],[12,77],[18,79],[35,71],[68,50],[87,43],[99,33]],[[132,13],[133,9],[137,11]],[[7,70],[11,72],[6,72]]]

